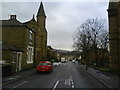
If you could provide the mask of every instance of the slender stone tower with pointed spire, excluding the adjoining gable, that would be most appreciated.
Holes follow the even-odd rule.
[[[42,59],[46,59],[47,56],[47,30],[46,30],[46,15],[41,2],[38,13],[37,13],[37,24],[41,29],[41,36],[39,37],[43,43],[41,43]],[[37,42],[36,42],[37,43]]]

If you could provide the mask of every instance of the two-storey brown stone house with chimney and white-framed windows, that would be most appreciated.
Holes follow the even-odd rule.
[[[33,67],[35,31],[19,22],[16,15],[2,20],[2,62],[12,66],[12,72]]]

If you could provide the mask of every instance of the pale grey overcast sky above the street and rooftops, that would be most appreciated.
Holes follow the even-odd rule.
[[[73,50],[73,34],[86,19],[108,19],[108,2],[42,1],[47,16],[47,42],[55,49]],[[39,5],[40,2],[4,2],[0,19],[7,20],[11,14],[16,14],[19,21],[29,21],[33,14],[36,16]]]

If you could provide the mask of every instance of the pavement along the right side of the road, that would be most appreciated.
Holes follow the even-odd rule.
[[[86,70],[86,65],[81,65],[81,67]],[[86,72],[107,88],[117,88],[120,90],[120,78],[117,75],[101,72],[91,67],[88,67]]]

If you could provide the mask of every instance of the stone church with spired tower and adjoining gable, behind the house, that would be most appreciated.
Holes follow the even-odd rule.
[[[38,64],[40,60],[47,59],[47,30],[46,30],[46,15],[43,7],[43,3],[40,3],[40,7],[37,12],[37,21],[33,18],[25,24],[32,28],[36,32],[36,48],[35,48],[35,64]]]

